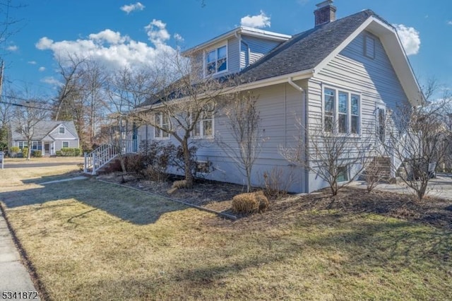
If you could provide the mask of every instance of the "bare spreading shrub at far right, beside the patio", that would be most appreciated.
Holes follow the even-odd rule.
[[[399,107],[387,117],[386,153],[393,156],[393,168],[399,170],[400,179],[418,200],[424,198],[436,164],[444,158],[450,143],[445,108],[446,102],[424,102],[417,107]]]

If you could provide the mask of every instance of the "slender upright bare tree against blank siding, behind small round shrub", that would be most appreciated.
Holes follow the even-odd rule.
[[[246,192],[251,192],[251,172],[265,141],[259,127],[261,117],[256,109],[256,100],[251,93],[237,93],[224,110],[235,143],[217,138],[225,153],[246,177]]]

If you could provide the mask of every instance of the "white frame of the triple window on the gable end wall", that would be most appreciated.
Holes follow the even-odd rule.
[[[328,112],[326,112],[326,90],[332,90],[334,92],[333,93],[333,95],[334,95],[333,114],[331,114],[331,113],[328,114]],[[346,106],[345,113],[339,112],[339,109],[340,109],[339,95],[340,94],[347,95],[347,106]],[[352,114],[352,98],[353,97],[356,97],[358,100],[358,110],[357,110],[358,114]],[[323,88],[322,88],[322,129],[323,129],[323,131],[327,132],[326,117],[332,116],[333,117],[333,128],[332,128],[333,133],[340,134],[340,135],[347,135],[347,134],[357,135],[357,136],[361,135],[361,129],[362,129],[362,126],[361,126],[362,125],[361,102],[362,102],[361,93],[357,93],[352,90],[333,87],[331,85],[323,85]],[[345,131],[340,131],[340,129],[338,129],[339,117],[340,117],[340,115],[343,115],[343,114],[345,114],[346,129],[345,129]],[[352,116],[357,117],[357,119],[358,119],[356,133],[352,133]]]

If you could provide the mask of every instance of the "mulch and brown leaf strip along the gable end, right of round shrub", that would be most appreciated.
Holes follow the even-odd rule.
[[[291,225],[300,213],[321,211],[331,211],[338,218],[373,213],[452,230],[452,201],[427,197],[420,202],[409,194],[388,191],[367,193],[364,189],[352,187],[341,189],[336,196],[331,196],[327,189],[304,196],[289,195],[270,203],[266,213],[238,220],[235,226],[261,228]],[[309,218],[315,216],[311,214]]]

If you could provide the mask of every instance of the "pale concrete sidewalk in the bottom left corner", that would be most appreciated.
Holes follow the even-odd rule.
[[[35,286],[30,274],[20,262],[20,255],[9,232],[6,220],[0,211],[0,299],[3,292],[27,292],[28,295],[9,298],[10,300],[32,300],[35,297]],[[30,292],[31,297],[30,297]],[[5,297],[8,297],[6,295]],[[36,299],[35,299],[36,300]]]

